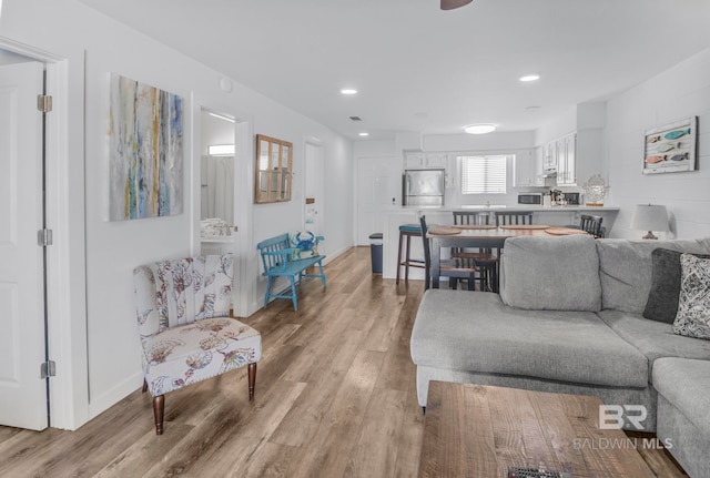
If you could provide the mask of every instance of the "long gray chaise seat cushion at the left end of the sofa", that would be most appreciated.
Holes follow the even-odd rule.
[[[412,332],[418,366],[610,387],[648,386],[648,360],[595,313],[524,311],[494,293],[430,289]]]

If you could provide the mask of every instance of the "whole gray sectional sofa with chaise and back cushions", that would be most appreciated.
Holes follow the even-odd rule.
[[[710,330],[674,318],[686,256],[672,251],[710,254],[710,238],[506,241],[499,295],[424,294],[410,342],[419,405],[429,380],[642,405],[623,427],[640,423],[691,477],[710,476],[710,340],[694,338]]]

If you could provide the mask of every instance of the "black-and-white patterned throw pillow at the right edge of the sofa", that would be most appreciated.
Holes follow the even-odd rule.
[[[710,339],[710,260],[680,256],[682,269],[673,333]]]

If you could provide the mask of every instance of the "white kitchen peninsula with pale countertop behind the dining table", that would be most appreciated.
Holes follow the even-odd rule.
[[[604,217],[602,226],[607,230],[607,234],[613,225],[619,207],[615,206],[585,206],[585,205],[566,205],[566,206],[535,206],[535,205],[463,205],[463,206],[440,206],[440,207],[423,207],[423,206],[402,206],[390,209],[385,212],[383,220],[383,277],[395,278],[397,268],[397,241],[399,238],[399,226],[402,224],[419,224],[419,214],[426,215],[426,222],[432,225],[450,225],[454,224],[454,211],[489,213],[490,221],[495,224],[493,214],[496,211],[505,212],[527,212],[532,211],[534,224],[546,224],[550,226],[564,226],[568,224],[579,224],[581,214],[598,215]],[[412,241],[412,257],[423,257],[422,241]],[[409,278],[424,279],[424,271],[420,268],[409,268]]]

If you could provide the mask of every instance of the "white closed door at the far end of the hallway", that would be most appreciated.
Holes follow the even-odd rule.
[[[384,233],[384,212],[402,203],[402,161],[394,156],[357,160],[357,245]]]

